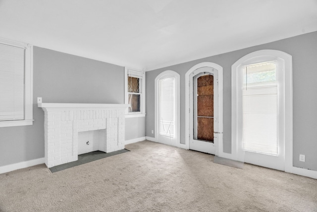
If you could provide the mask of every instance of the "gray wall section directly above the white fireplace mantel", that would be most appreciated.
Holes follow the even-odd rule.
[[[37,47],[33,57],[34,103],[124,103],[124,67]]]

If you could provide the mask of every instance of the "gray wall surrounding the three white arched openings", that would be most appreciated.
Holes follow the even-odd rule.
[[[155,130],[154,80],[165,70],[180,74],[181,143],[185,143],[185,73],[200,62],[214,62],[223,67],[223,147],[231,152],[231,65],[242,56],[259,50],[279,50],[293,56],[293,165],[317,170],[317,32],[219,54],[146,72],[146,136]],[[306,162],[299,161],[306,155]]]

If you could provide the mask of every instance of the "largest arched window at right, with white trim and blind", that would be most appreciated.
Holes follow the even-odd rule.
[[[291,145],[292,56],[250,53],[232,65],[233,159],[284,170]]]

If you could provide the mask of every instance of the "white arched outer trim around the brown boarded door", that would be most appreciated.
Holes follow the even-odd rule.
[[[213,62],[202,62],[191,67],[185,74],[185,147],[189,149],[189,136],[190,136],[190,87],[193,87],[190,80],[190,74],[202,67],[211,67],[218,72],[218,144],[215,146],[215,155],[221,157],[223,154],[223,68]],[[191,129],[192,130],[192,129]]]

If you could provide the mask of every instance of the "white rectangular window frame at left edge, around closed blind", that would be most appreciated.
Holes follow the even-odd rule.
[[[0,38],[0,43],[25,49],[24,57],[24,119],[0,121],[0,127],[33,125],[33,46]]]

